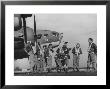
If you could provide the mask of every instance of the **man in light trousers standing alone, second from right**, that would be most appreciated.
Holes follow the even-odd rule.
[[[73,53],[73,68],[76,68],[77,71],[79,71],[80,54],[82,54],[82,50],[80,48],[79,43],[77,43],[76,47],[73,48],[72,53]]]

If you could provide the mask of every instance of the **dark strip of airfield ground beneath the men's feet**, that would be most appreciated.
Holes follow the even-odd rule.
[[[67,73],[65,72],[44,72],[44,73],[29,73],[29,72],[16,72],[14,73],[15,76],[97,76],[97,72],[87,72],[86,70],[80,70],[80,71],[69,71]]]

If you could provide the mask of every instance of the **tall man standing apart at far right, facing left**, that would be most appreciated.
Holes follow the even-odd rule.
[[[97,62],[96,62],[96,56],[97,56],[97,46],[95,43],[93,43],[93,39],[89,38],[88,39],[89,42],[89,47],[88,47],[88,61],[87,61],[87,70],[90,70],[90,66],[92,64],[92,69],[94,71],[96,71],[96,66],[97,66]]]

